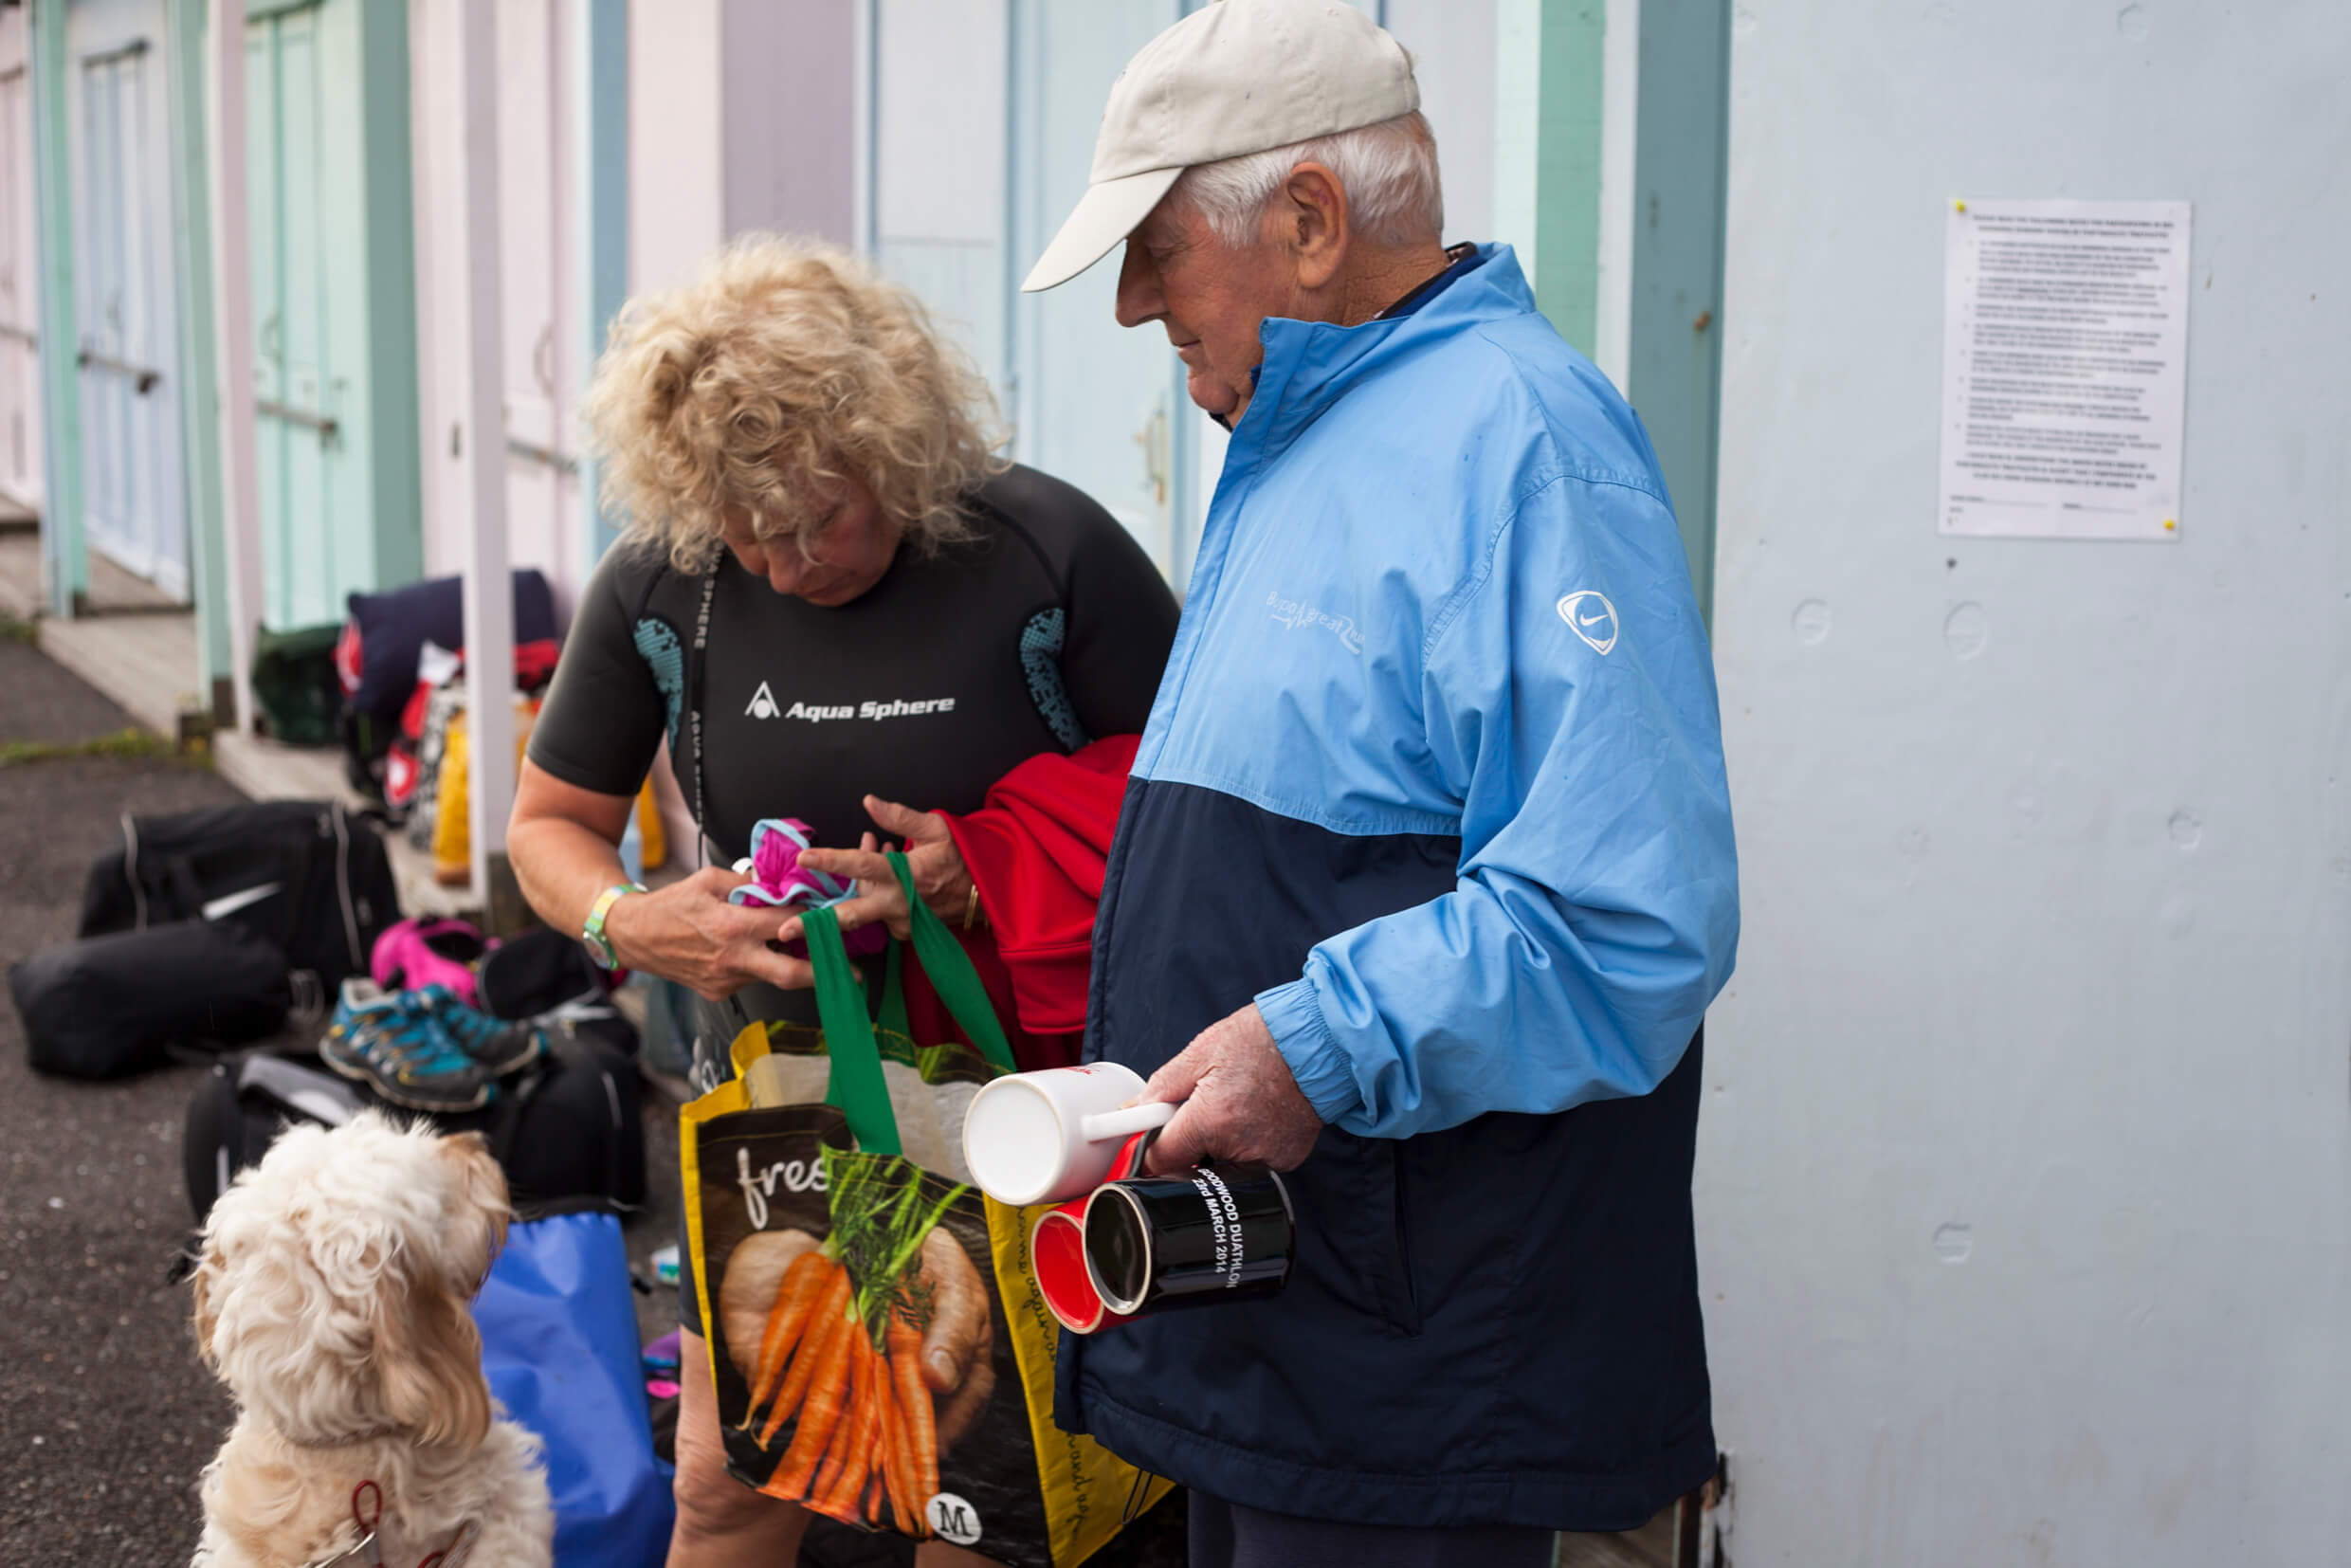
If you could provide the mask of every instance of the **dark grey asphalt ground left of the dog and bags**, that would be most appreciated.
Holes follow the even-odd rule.
[[[0,637],[0,743],[92,741],[120,708]],[[0,964],[68,940],[82,875],[125,811],[240,799],[169,757],[0,766]],[[0,1563],[186,1563],[195,1476],[228,1399],[195,1359],[181,1119],[202,1067],[115,1084],[38,1077],[0,1009]]]

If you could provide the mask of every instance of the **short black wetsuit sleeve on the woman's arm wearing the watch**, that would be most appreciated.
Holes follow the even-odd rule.
[[[635,795],[661,750],[672,703],[656,670],[682,670],[682,649],[665,621],[630,623],[656,571],[656,562],[609,550],[581,592],[529,748],[531,762],[567,785]]]

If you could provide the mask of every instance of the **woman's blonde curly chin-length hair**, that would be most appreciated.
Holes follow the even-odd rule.
[[[971,536],[964,498],[1006,468],[971,360],[912,294],[818,240],[743,235],[691,284],[632,299],[583,414],[623,543],[689,574],[717,562],[736,508],[806,550],[811,484],[844,477],[936,550]]]

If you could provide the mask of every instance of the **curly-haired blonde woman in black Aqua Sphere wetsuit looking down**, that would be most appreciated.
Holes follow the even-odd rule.
[[[980,376],[912,296],[825,244],[741,240],[632,301],[588,418],[625,531],[531,729],[508,853],[552,929],[703,999],[708,1081],[743,1023],[813,1023],[806,964],[769,945],[778,912],[726,903],[752,823],[802,818],[849,851],[903,839],[924,900],[985,926],[933,811],[973,811],[1039,752],[1140,731],[1176,602],[1100,505],[990,456]],[[663,745],[708,867],[632,891],[616,846]],[[1006,1032],[1025,1067],[1070,1060],[1070,1041]],[[726,1474],[684,1295],[670,1563],[790,1563],[809,1516]],[[973,1359],[924,1347],[943,1399]],[[926,1542],[919,1561],[980,1559]]]

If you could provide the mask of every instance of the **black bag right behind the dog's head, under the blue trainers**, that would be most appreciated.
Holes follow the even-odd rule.
[[[188,1105],[181,1161],[188,1208],[202,1225],[228,1180],[261,1159],[294,1121],[341,1126],[362,1110],[430,1121],[444,1133],[482,1133],[505,1168],[515,1208],[644,1206],[644,1093],[637,1065],[614,1044],[567,1020],[548,1023],[548,1056],[498,1081],[482,1110],[426,1114],[386,1105],[362,1084],[315,1060],[252,1053],[216,1063]]]

